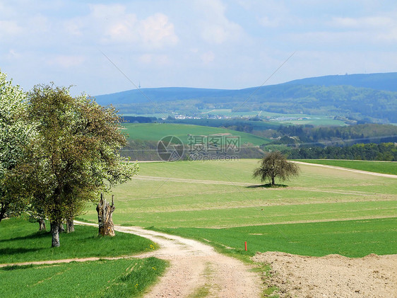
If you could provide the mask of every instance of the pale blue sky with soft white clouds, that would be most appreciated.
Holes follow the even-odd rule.
[[[0,0],[0,70],[91,96],[394,72],[397,1]]]

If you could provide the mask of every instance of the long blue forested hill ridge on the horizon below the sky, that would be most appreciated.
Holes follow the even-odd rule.
[[[236,113],[265,110],[397,123],[396,82],[397,73],[350,74],[240,90],[143,88],[95,98],[101,105],[114,105],[121,113],[199,115],[203,110],[227,108]]]

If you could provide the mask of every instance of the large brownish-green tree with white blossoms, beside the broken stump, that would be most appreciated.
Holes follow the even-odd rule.
[[[126,144],[119,115],[92,98],[73,97],[65,87],[35,86],[28,118],[37,123],[29,155],[32,205],[49,219],[52,246],[60,246],[59,225],[66,220],[73,231],[85,203],[129,180],[138,166],[119,155]]]

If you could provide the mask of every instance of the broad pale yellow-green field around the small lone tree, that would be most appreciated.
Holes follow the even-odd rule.
[[[142,175],[113,190],[114,220],[141,227],[237,227],[396,214],[394,179],[302,164],[288,187],[263,188],[251,178],[256,164],[140,164]],[[95,221],[95,210],[83,218]]]

